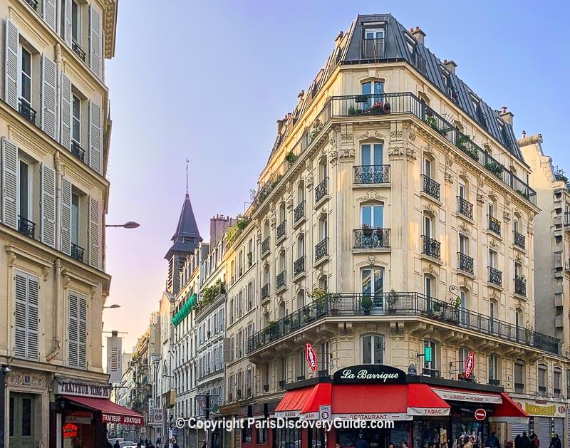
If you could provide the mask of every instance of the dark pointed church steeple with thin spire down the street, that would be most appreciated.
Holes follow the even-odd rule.
[[[165,255],[165,259],[168,260],[167,291],[176,294],[180,290],[179,274],[184,261],[188,255],[194,253],[194,249],[202,241],[188,194],[188,160],[186,160],[186,196],[172,241],[174,242]]]

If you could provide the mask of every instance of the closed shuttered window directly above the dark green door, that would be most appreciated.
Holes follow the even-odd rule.
[[[39,278],[23,271],[14,273],[14,355],[39,358]]]

